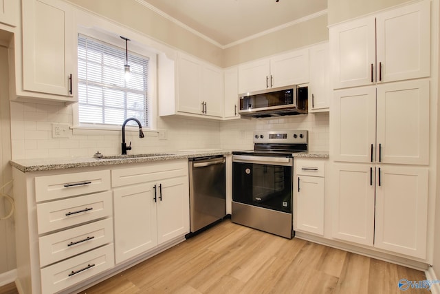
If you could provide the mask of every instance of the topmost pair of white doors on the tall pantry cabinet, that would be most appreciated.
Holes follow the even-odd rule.
[[[330,40],[334,89],[429,76],[430,1],[335,25]]]

